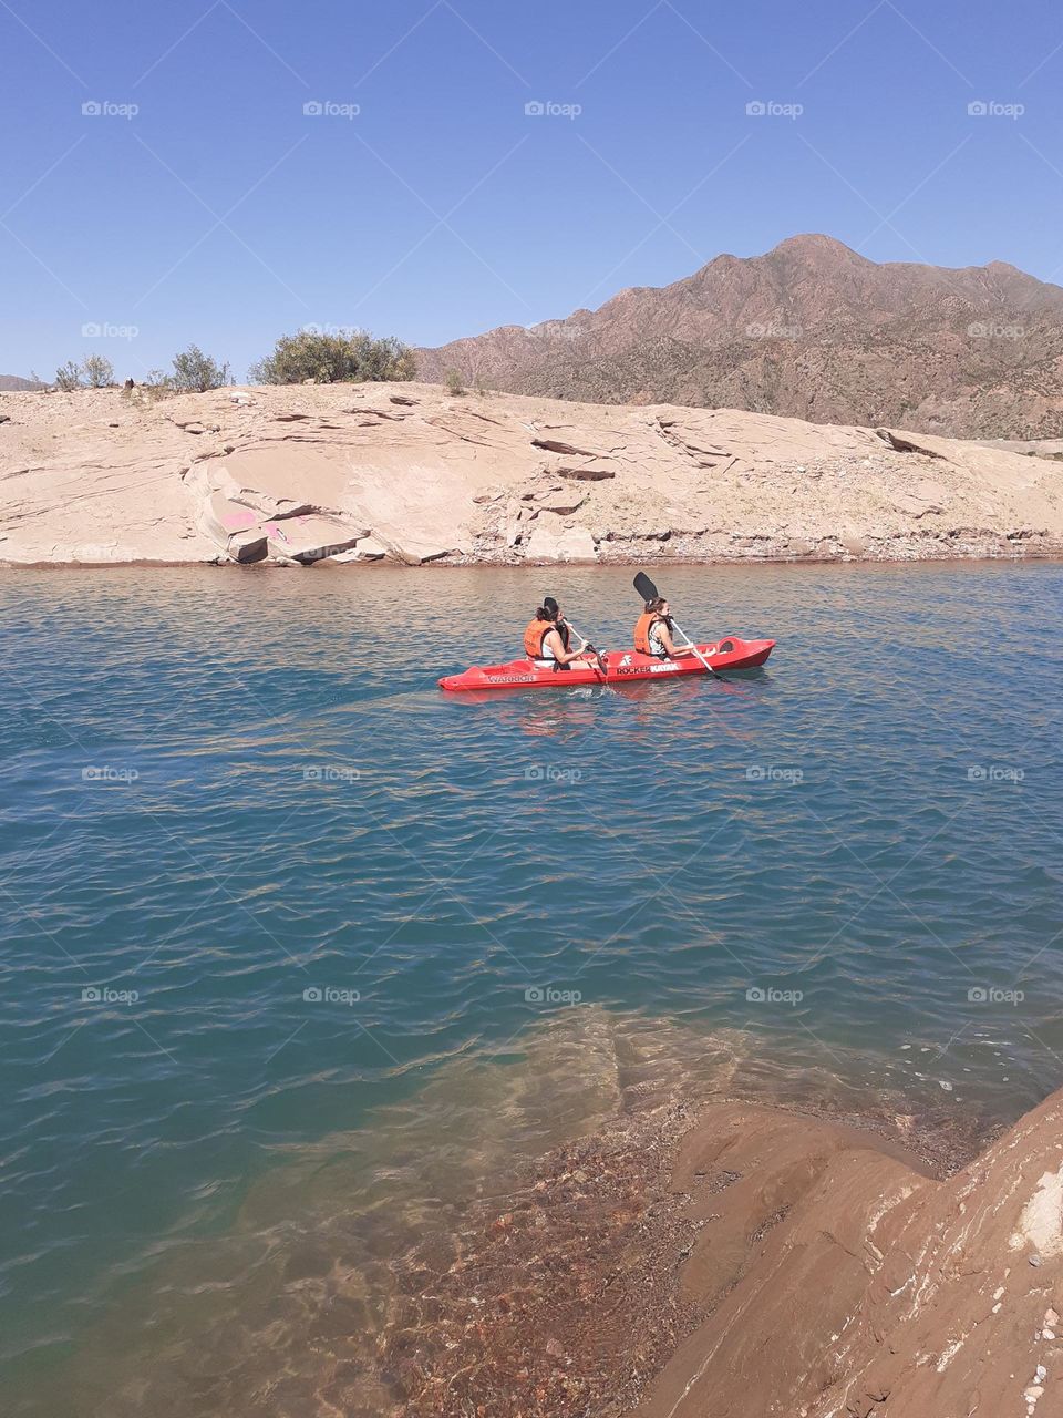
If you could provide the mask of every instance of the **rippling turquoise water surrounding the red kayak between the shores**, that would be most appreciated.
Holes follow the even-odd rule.
[[[317,1412],[432,1208],[665,1061],[1063,1083],[1063,569],[658,580],[767,668],[437,691],[546,591],[624,644],[626,571],[0,583],[10,1411]]]

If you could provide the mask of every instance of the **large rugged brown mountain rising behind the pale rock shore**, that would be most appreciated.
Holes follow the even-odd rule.
[[[418,350],[418,377],[978,438],[1063,435],[1063,289],[994,261],[877,264],[832,237],[720,255],[597,311]]]

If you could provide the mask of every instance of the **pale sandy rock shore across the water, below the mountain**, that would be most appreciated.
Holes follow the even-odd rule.
[[[736,410],[429,384],[0,394],[0,564],[1063,552],[1063,464]]]

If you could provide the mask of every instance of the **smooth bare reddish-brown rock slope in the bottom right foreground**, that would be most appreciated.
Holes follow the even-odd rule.
[[[643,1418],[1060,1411],[1063,1093],[948,1181],[829,1126],[714,1109],[673,1184],[703,1222],[680,1283],[704,1317]]]

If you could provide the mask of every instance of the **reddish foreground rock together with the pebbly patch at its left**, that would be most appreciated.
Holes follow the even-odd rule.
[[[751,1103],[628,1119],[421,1272],[388,1411],[1056,1414],[1062,1208],[1063,1093],[944,1181],[884,1136]]]

